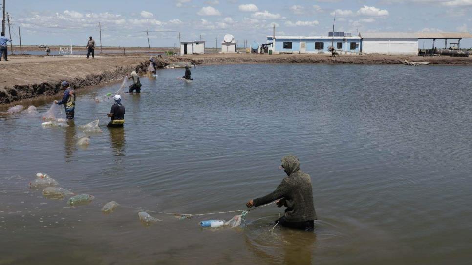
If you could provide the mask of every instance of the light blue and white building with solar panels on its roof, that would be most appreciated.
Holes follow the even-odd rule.
[[[337,51],[359,53],[361,51],[361,37],[351,36],[350,33],[329,32],[329,36],[267,36],[268,43],[274,43],[269,50],[273,54],[300,53],[316,54],[327,53],[332,44]]]

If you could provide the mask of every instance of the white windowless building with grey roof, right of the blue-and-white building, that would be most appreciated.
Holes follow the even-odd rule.
[[[361,32],[359,36],[365,54],[418,55],[416,32]]]

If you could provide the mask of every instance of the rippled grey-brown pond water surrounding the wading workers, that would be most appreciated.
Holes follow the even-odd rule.
[[[78,89],[68,128],[0,115],[0,264],[469,264],[472,79],[456,77],[471,69],[205,66],[191,84],[169,69],[125,96],[124,129],[105,127],[111,103],[90,100],[119,85]],[[77,147],[77,126],[97,118],[103,133]],[[289,153],[312,177],[313,234],[271,234],[275,206],[238,229],[198,226],[231,213],[153,214],[163,221],[146,228],[137,210],[100,211],[244,209],[279,184]],[[46,199],[28,188],[37,172],[95,200]]]

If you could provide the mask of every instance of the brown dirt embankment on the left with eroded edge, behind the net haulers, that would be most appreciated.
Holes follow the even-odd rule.
[[[74,88],[121,79],[131,71],[146,71],[149,57],[41,58],[11,57],[0,64],[0,104],[56,95],[62,81]]]

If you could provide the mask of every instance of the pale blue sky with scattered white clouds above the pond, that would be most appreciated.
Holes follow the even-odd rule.
[[[205,40],[221,46],[230,33],[238,40],[266,43],[276,35],[327,36],[335,31],[472,31],[472,0],[6,0],[12,39],[23,45],[174,47]],[[8,37],[8,27],[6,27]],[[431,46],[427,42],[425,47]],[[444,45],[439,41],[438,47]],[[472,40],[462,40],[469,48]],[[467,46],[467,47],[466,47]],[[420,42],[420,48],[422,42]]]

